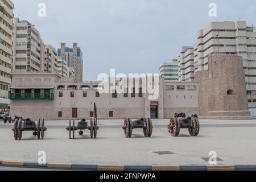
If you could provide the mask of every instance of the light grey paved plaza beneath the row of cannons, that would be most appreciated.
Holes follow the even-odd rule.
[[[31,131],[23,132],[22,140],[14,140],[13,123],[0,121],[0,161],[37,162],[38,152],[46,151],[47,163],[207,165],[201,158],[216,151],[222,159],[218,164],[256,164],[256,120],[200,120],[198,137],[181,129],[176,138],[168,133],[168,122],[153,120],[151,138],[144,138],[142,129],[134,129],[133,137],[125,138],[122,120],[100,120],[97,139],[90,139],[88,130],[84,136],[76,132],[76,139],[69,139],[68,121],[46,121],[45,140],[36,139]]]

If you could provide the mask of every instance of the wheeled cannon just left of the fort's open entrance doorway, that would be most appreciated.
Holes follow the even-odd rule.
[[[123,131],[125,131],[126,138],[131,138],[133,129],[143,129],[144,137],[151,137],[153,131],[153,125],[150,118],[140,118],[135,121],[131,121],[130,118],[125,118],[122,128]]]

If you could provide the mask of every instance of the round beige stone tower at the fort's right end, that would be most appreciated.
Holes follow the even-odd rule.
[[[200,83],[199,114],[250,115],[242,57],[210,55],[208,63],[207,71],[196,72],[196,81]]]

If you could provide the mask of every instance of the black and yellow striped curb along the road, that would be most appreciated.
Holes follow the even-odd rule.
[[[59,169],[74,171],[256,171],[255,165],[104,165],[104,164],[60,164],[40,165],[35,162],[0,161],[3,167],[23,167],[38,169]]]

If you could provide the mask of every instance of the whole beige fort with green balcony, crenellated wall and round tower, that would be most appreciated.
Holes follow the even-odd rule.
[[[75,82],[54,73],[13,73],[10,115],[50,120],[88,119],[93,117],[95,102],[101,119],[163,119],[180,112],[199,114],[203,119],[253,119],[247,106],[242,57],[210,55],[208,59],[209,69],[197,72],[196,82],[170,82],[162,77],[159,82],[153,81],[152,84],[159,86],[159,96],[154,100],[148,93],[142,93],[142,80],[139,93],[133,89],[121,94],[102,94],[98,92],[100,81]]]

